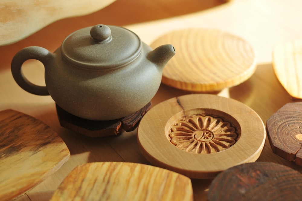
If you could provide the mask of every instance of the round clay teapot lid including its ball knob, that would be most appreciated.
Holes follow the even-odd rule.
[[[75,31],[61,45],[65,60],[89,69],[121,67],[137,58],[141,51],[142,41],[135,33],[106,25]]]

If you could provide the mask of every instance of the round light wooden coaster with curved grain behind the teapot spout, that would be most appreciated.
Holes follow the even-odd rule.
[[[176,54],[165,66],[162,83],[195,92],[220,91],[236,86],[256,69],[252,47],[230,33],[214,29],[170,32],[151,44],[172,44]]]

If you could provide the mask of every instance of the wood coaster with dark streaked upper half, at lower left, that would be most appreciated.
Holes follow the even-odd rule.
[[[69,157],[63,140],[40,120],[14,110],[0,112],[0,200],[26,193]]]

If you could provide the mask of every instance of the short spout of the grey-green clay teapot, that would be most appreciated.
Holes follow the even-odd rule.
[[[149,52],[147,58],[149,61],[153,62],[159,68],[163,69],[168,61],[175,55],[175,49],[173,45],[166,44],[161,45]]]

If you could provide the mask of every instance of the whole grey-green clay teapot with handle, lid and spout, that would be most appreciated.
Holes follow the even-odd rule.
[[[175,55],[170,44],[152,50],[132,31],[96,25],[69,35],[54,53],[32,46],[13,58],[17,84],[37,95],[50,95],[63,110],[89,120],[113,120],[140,110],[156,94],[165,64]],[[45,68],[46,86],[24,77],[24,61]]]

